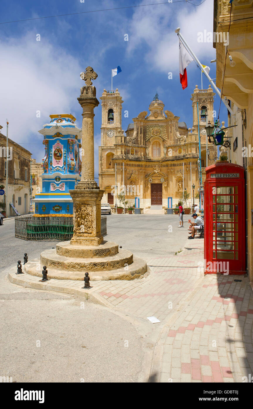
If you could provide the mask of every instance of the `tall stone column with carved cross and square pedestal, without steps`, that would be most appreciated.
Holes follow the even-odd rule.
[[[101,236],[101,198],[104,191],[99,189],[94,180],[94,108],[99,105],[96,88],[91,79],[97,73],[91,67],[81,73],[86,85],[81,88],[77,98],[83,108],[82,121],[82,173],[81,180],[69,193],[73,199],[74,234],[70,245],[99,245],[103,243]]]

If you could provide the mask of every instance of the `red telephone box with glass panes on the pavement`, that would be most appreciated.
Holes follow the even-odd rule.
[[[220,162],[206,168],[205,274],[246,273],[244,168]]]

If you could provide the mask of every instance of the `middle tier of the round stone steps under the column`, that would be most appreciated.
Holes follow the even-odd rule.
[[[55,249],[45,250],[40,254],[41,265],[47,268],[62,269],[68,271],[103,271],[116,270],[128,267],[133,262],[133,254],[129,250],[121,250],[118,254],[106,257],[66,257],[56,253]]]

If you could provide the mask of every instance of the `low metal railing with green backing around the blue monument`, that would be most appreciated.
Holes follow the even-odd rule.
[[[101,215],[101,234],[106,236],[106,216]],[[15,217],[15,237],[23,240],[70,240],[73,236],[73,217],[34,217],[32,214]]]

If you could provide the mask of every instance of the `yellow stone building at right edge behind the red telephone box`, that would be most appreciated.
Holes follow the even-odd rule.
[[[247,270],[253,288],[253,2],[214,1],[216,84],[233,111],[228,111],[232,163],[244,166],[246,178]],[[229,42],[224,43],[223,38]]]

